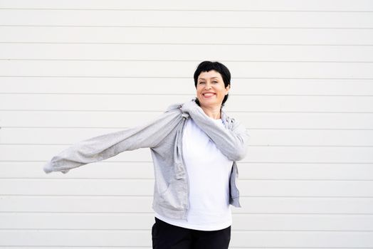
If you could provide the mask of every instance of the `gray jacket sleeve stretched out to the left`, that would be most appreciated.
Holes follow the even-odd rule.
[[[114,157],[120,152],[156,147],[179,122],[181,111],[169,110],[139,127],[103,134],[78,142],[63,150],[43,167],[46,173],[67,173],[78,166]]]

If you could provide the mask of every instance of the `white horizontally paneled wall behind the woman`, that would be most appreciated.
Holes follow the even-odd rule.
[[[68,174],[69,144],[233,75],[251,130],[231,248],[373,248],[373,1],[0,1],[0,248],[149,248],[152,163]]]

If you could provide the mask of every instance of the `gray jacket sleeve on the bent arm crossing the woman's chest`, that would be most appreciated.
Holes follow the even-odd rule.
[[[210,137],[228,159],[239,161],[246,156],[248,149],[248,138],[250,137],[246,128],[238,121],[226,117],[222,113],[224,126],[216,124],[208,117],[204,110],[192,100],[182,106],[182,111],[187,112],[191,119]]]

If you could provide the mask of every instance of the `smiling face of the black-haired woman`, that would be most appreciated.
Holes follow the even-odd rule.
[[[225,95],[228,94],[229,85],[224,86],[221,74],[215,70],[202,72],[198,76],[196,95],[201,107],[221,107]]]

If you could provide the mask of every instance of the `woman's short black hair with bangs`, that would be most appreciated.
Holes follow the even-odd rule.
[[[228,68],[225,65],[217,61],[205,60],[199,63],[199,65],[196,68],[196,71],[194,72],[194,86],[197,87],[198,76],[202,72],[209,72],[211,70],[215,70],[216,72],[220,73],[221,78],[223,78],[225,87],[231,85],[231,72],[229,72]],[[226,100],[228,100],[228,94],[224,96],[221,105],[224,105]]]

